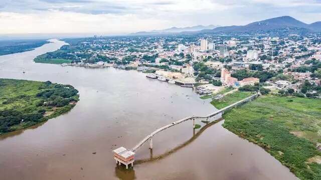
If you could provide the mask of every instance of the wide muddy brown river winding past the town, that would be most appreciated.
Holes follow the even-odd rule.
[[[153,138],[152,156],[187,143],[133,169],[117,166],[112,149],[132,148],[156,128],[215,108],[190,88],[140,72],[33,62],[64,44],[54,40],[33,51],[0,56],[0,78],[71,84],[80,93],[70,112],[0,137],[0,179],[296,179],[262,148],[224,129],[223,121],[197,136],[192,122],[167,129]],[[135,158],[150,156],[144,145]]]

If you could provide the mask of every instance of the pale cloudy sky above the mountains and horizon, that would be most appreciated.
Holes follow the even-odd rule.
[[[0,0],[0,34],[122,34],[278,16],[321,21],[321,0]]]

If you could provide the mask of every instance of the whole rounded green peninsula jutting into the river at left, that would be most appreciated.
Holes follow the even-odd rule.
[[[0,79],[0,134],[68,112],[78,99],[71,85]]]

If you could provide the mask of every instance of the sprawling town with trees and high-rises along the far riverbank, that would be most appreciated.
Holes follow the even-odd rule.
[[[301,96],[320,97],[321,40],[313,34],[95,36],[65,41],[70,45],[38,58],[65,59],[62,66],[135,69],[185,87],[260,83],[281,93],[291,89]],[[201,94],[220,89],[213,86],[205,86]]]

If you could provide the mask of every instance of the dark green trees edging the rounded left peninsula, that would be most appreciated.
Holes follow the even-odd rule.
[[[71,85],[53,84],[46,81],[38,89],[41,91],[35,95],[39,99],[36,103],[18,110],[15,108],[0,110],[0,134],[10,131],[10,127],[20,123],[33,125],[42,121],[46,112],[44,108],[64,107],[69,105],[71,101],[78,100],[78,90]],[[28,101],[29,99],[29,95],[19,95],[8,98],[2,104],[7,105],[21,100]]]

